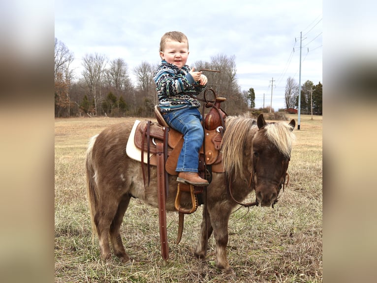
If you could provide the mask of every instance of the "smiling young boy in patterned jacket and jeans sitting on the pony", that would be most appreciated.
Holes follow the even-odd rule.
[[[187,65],[188,38],[181,32],[168,32],[161,37],[159,55],[162,59],[154,80],[158,106],[167,124],[184,135],[178,158],[177,181],[195,186],[206,186],[208,181],[199,177],[199,150],[204,139],[200,103],[192,96],[200,94],[207,77]],[[188,95],[190,94],[190,95]]]

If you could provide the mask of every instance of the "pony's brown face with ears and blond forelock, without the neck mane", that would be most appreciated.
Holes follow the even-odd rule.
[[[289,123],[266,123],[263,114],[257,118],[258,130],[251,146],[251,186],[260,206],[274,207],[286,181],[295,120]]]

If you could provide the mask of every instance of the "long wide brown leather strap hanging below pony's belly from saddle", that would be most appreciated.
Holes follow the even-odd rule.
[[[158,200],[158,223],[159,236],[161,242],[162,258],[166,261],[169,258],[169,247],[167,243],[166,232],[166,193],[165,193],[165,157],[163,151],[163,144],[157,143],[157,200]]]

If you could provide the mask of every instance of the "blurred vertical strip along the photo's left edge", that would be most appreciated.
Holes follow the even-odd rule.
[[[0,3],[0,282],[54,282],[54,2]]]

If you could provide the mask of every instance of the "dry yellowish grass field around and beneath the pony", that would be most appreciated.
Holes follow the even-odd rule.
[[[296,119],[297,115],[290,115]],[[138,118],[143,120],[143,118]],[[322,116],[301,115],[289,164],[289,184],[275,209],[243,208],[229,221],[228,259],[237,278],[215,267],[214,239],[206,262],[193,256],[202,208],[185,217],[175,245],[178,214],[168,213],[169,261],[160,254],[155,208],[131,200],[121,228],[130,267],[100,259],[91,241],[85,196],[85,151],[90,137],[135,118],[55,120],[55,282],[322,282]],[[251,195],[251,198],[253,196]]]

